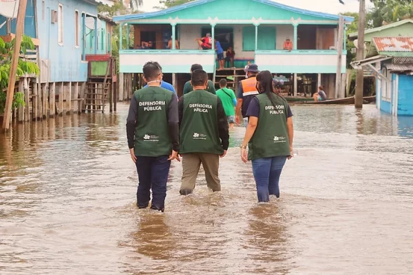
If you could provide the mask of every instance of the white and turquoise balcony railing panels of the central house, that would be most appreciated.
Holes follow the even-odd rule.
[[[260,70],[277,74],[335,74],[337,50],[257,50],[254,63]],[[142,73],[148,61],[156,61],[164,73],[189,73],[199,63],[207,73],[215,72],[216,55],[212,50],[120,50],[122,73]],[[346,72],[346,52],[342,53],[341,72]]]

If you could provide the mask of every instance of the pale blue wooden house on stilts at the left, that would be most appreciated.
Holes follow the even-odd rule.
[[[1,3],[0,36],[6,40],[14,37],[18,2],[8,2],[7,7]],[[83,109],[90,72],[87,56],[111,56],[114,23],[98,17],[97,6],[103,2],[113,4],[110,0],[28,0],[24,33],[36,45],[40,76],[33,101],[39,100],[36,104],[43,107],[40,115]]]

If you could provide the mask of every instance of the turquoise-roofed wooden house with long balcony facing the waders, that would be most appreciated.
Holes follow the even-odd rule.
[[[345,26],[353,19],[344,17],[344,20],[345,37]],[[179,75],[187,74],[193,63],[202,64],[208,73],[216,75],[214,50],[199,50],[194,41],[207,32],[220,41],[224,51],[233,47],[235,67],[240,69],[253,61],[261,70],[268,69],[294,82],[298,74],[310,77],[315,85],[334,87],[337,54],[341,54],[341,71],[346,72],[346,51],[336,50],[339,16],[335,14],[302,10],[269,0],[198,0],[158,12],[114,17],[114,21],[134,26],[133,35],[127,37],[133,42],[128,40],[128,45],[136,48],[142,41],[153,41],[151,50],[120,45],[123,73],[141,73],[147,61],[158,61],[164,74],[178,74],[178,81]],[[171,50],[166,49],[170,37],[173,42],[178,39],[179,50],[175,43]],[[284,50],[287,38],[293,42],[291,51]],[[346,43],[346,39],[341,41]],[[180,87],[180,83],[175,84]],[[330,92],[334,94],[334,88]]]

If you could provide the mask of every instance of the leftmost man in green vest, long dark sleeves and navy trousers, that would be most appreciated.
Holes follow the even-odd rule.
[[[135,91],[127,116],[127,143],[131,158],[138,170],[136,192],[138,208],[164,212],[167,179],[171,160],[179,151],[178,98],[161,88],[162,68],[157,62],[143,67],[143,78],[148,87]]]

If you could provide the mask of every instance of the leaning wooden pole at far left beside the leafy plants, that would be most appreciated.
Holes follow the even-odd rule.
[[[9,129],[10,127],[10,116],[12,115],[14,84],[16,83],[17,64],[19,63],[20,45],[21,45],[21,39],[23,37],[25,8],[26,8],[27,3],[28,3],[27,0],[20,0],[19,10],[17,12],[16,37],[14,40],[12,64],[10,65],[10,77],[9,77],[9,85],[7,89],[7,96],[6,96],[6,107],[4,108],[3,129],[6,129],[6,130]]]

